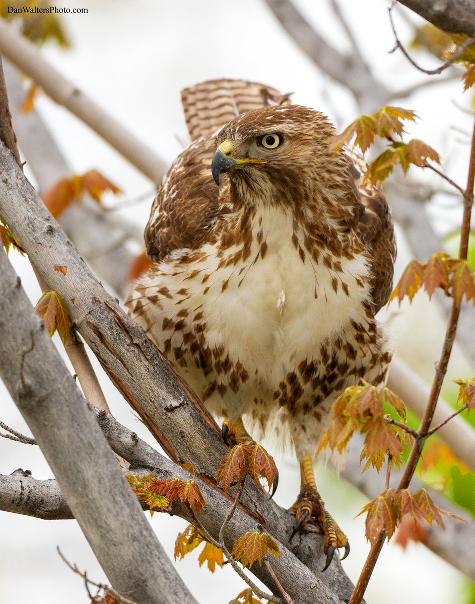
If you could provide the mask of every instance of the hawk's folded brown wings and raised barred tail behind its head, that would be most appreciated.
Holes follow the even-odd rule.
[[[218,187],[210,165],[215,151],[210,137],[241,113],[268,104],[289,103],[289,95],[275,88],[245,80],[211,80],[181,93],[190,138],[196,140],[173,163],[152,205],[145,230],[150,259],[166,257],[174,249],[201,245],[218,216]],[[358,239],[367,248],[372,264],[372,298],[375,312],[386,304],[393,278],[396,246],[392,218],[382,191],[363,182],[364,159],[348,147],[350,178],[355,182],[362,207],[356,225]]]

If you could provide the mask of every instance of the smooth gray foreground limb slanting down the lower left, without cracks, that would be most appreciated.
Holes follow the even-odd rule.
[[[103,570],[117,591],[138,604],[195,602],[3,249],[0,274],[0,375]]]

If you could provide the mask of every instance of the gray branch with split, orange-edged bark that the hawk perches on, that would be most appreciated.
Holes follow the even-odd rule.
[[[215,421],[143,329],[95,280],[3,146],[0,173],[0,214],[48,286],[62,295],[74,325],[106,373],[170,457],[189,461],[205,481],[213,483],[227,451]],[[66,266],[66,276],[55,271],[55,265]],[[268,500],[256,485],[246,487],[242,503],[259,522],[267,523],[276,539],[288,539],[294,516]],[[312,571],[323,568],[322,536],[302,536],[292,551]],[[349,597],[352,583],[338,561],[321,578],[337,597]]]

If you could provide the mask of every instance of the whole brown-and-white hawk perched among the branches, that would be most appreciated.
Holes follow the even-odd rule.
[[[233,80],[187,89],[183,103],[193,142],[153,202],[156,264],[127,304],[225,434],[250,439],[244,416],[291,439],[302,475],[292,536],[313,516],[327,567],[349,545],[312,461],[338,394],[386,379],[375,314],[392,286],[389,208],[361,182],[360,158],[331,150],[320,112]]]

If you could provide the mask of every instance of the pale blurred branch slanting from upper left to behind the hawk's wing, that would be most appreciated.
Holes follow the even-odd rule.
[[[73,82],[69,82],[53,68],[37,47],[0,20],[2,54],[21,71],[30,76],[57,103],[65,106],[76,117],[97,132],[124,158],[160,184],[167,163],[144,145],[122,123],[115,120],[92,98],[84,94]]]

